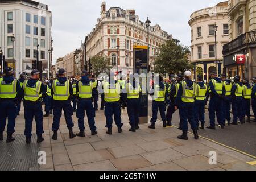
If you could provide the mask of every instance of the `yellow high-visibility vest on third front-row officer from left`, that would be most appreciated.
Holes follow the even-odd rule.
[[[68,100],[69,94],[69,80],[67,80],[64,84],[61,84],[59,80],[54,80],[52,84],[53,89],[53,100],[56,101],[65,101]]]

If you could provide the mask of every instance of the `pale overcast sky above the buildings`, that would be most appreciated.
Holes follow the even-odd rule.
[[[100,18],[102,0],[39,0],[52,11],[53,63],[58,57],[80,48],[81,40],[92,31]],[[162,30],[190,46],[190,15],[205,7],[215,6],[220,0],[105,0],[106,9],[121,7],[135,9],[141,21],[147,16],[151,25],[159,24]]]

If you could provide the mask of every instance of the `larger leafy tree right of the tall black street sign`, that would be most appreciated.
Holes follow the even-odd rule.
[[[188,55],[190,50],[187,46],[178,46],[173,40],[167,40],[166,44],[159,47],[154,72],[163,75],[184,73],[192,68]]]

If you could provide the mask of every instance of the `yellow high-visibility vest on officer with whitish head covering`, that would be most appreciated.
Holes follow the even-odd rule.
[[[181,82],[182,85],[182,98],[181,100],[186,103],[193,103],[195,102],[195,96],[196,96],[196,84],[193,83],[192,86],[188,86],[185,81]]]

